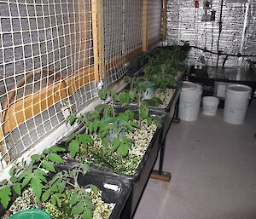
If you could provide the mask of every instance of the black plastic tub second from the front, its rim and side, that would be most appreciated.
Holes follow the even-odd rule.
[[[118,111],[121,112],[125,109],[119,109]],[[137,111],[137,110],[135,110]],[[163,123],[166,118],[166,113],[163,112],[154,112],[152,114],[154,118],[160,118],[161,122]],[[111,179],[119,178],[119,180],[124,180],[129,182],[131,185],[131,195],[125,205],[125,209],[123,210],[120,218],[126,219],[131,218],[137,208],[138,202],[143,194],[144,187],[148,182],[148,177],[151,173],[151,170],[154,167],[155,160],[158,156],[158,152],[160,150],[160,139],[162,135],[162,128],[161,126],[158,130],[155,131],[146,153],[144,154],[136,173],[132,176],[128,176],[121,173],[114,173],[112,170],[109,170],[108,167],[96,167],[93,164],[90,164],[90,172],[87,174],[88,176],[102,176],[102,179]],[[82,128],[80,131],[83,131]],[[65,142],[60,143],[63,147]],[[70,159],[67,161],[67,167],[70,166],[70,162],[76,162],[74,159]],[[61,165],[62,168],[65,168],[66,165]],[[119,218],[119,217],[117,217]]]

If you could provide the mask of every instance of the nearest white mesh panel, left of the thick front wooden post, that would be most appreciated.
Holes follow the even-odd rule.
[[[99,3],[0,1],[0,140],[7,162],[96,96]]]

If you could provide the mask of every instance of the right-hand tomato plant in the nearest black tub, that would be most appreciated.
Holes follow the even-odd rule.
[[[99,189],[91,184],[86,186],[79,184],[79,176],[84,176],[88,171],[88,164],[76,163],[70,170],[58,172],[49,181],[42,196],[44,202],[49,201],[55,207],[49,208],[49,213],[52,213],[52,209],[57,209],[64,210],[60,218],[92,218],[94,205],[87,189],[90,188],[93,193],[98,193]],[[66,191],[67,187],[69,189]]]

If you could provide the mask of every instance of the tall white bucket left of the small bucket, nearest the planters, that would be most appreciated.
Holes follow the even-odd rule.
[[[201,94],[201,85],[183,82],[178,106],[178,117],[180,119],[184,121],[194,121],[198,118]]]

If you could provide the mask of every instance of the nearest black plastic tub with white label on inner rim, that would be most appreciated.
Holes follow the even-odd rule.
[[[58,165],[57,170],[67,170],[72,164],[66,164],[65,166]],[[115,204],[111,216],[109,219],[119,219],[125,207],[125,204],[131,196],[131,184],[125,178],[99,175],[96,173],[90,173],[85,176],[79,176],[79,185],[85,186],[88,184],[95,185],[102,191],[102,200],[105,203]],[[12,198],[12,202],[15,201],[17,196]],[[10,204],[11,205],[11,204]],[[0,218],[5,214],[6,210],[0,205]]]

